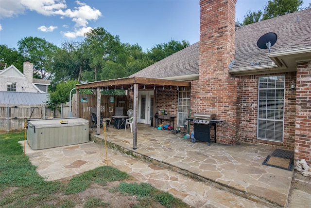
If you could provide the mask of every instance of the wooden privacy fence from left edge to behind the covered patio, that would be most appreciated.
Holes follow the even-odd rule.
[[[77,101],[79,101],[79,116]],[[111,115],[115,114],[116,107],[123,107],[123,114],[126,115],[128,104],[127,95],[102,95],[101,115],[111,118]],[[79,99],[76,94],[72,95],[72,117],[90,120],[91,108],[97,108],[97,95],[79,94]],[[66,118],[69,117],[69,111],[69,102],[58,105],[54,111],[46,105],[0,105],[0,132],[23,130],[25,119]]]

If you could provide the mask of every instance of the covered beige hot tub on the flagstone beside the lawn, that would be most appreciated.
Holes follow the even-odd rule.
[[[88,140],[88,120],[83,118],[37,119],[27,123],[27,142],[33,150],[80,144]]]

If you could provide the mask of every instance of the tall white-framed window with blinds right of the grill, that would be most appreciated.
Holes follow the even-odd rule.
[[[283,142],[285,76],[259,77],[257,138]]]

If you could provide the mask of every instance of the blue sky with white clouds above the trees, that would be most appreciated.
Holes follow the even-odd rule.
[[[303,7],[311,0],[303,0]],[[268,0],[238,0],[236,20],[263,10]],[[199,41],[199,0],[0,0],[0,44],[17,49],[25,37],[44,38],[61,47],[103,27],[122,43],[144,51],[171,39]]]

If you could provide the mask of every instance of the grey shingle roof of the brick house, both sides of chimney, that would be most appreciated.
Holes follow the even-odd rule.
[[[273,19],[239,27],[235,38],[235,63],[231,69],[249,67],[251,62],[266,64],[268,49],[259,49],[257,40],[264,34],[277,35],[271,52],[311,47],[311,8]],[[199,42],[166,57],[131,75],[148,78],[165,78],[199,74]]]

